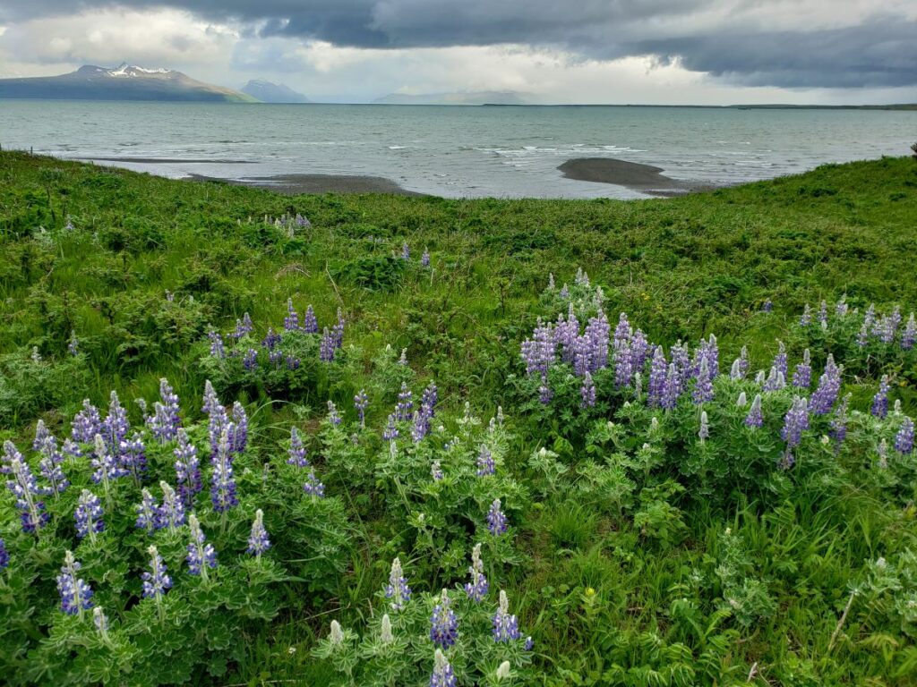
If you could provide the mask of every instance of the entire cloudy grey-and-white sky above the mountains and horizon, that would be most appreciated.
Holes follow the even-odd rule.
[[[0,76],[178,69],[318,101],[917,102],[917,0],[0,0]]]

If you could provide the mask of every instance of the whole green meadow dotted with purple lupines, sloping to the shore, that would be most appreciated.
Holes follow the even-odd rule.
[[[0,152],[0,669],[13,684],[914,684],[915,230],[911,158],[619,202],[291,197]],[[300,326],[310,305],[317,333]],[[610,348],[588,381],[578,344],[521,355],[571,312],[569,336],[591,321],[585,339]],[[646,342],[661,348],[638,355]],[[671,408],[654,350],[678,376]],[[839,391],[813,410],[831,361]],[[157,433],[163,378],[203,488],[146,527],[148,494],[165,505],[193,482],[174,467],[183,440]],[[99,417],[81,434],[83,399]],[[39,426],[55,442],[33,447]],[[305,463],[288,462],[297,436]],[[227,466],[238,503],[217,507]],[[186,561],[192,513],[209,577]],[[66,551],[82,568],[61,572]],[[150,592],[157,555],[171,580]],[[92,598],[62,608],[59,575]],[[478,575],[481,598],[464,587]],[[450,608],[457,638],[442,617],[431,634]]]

